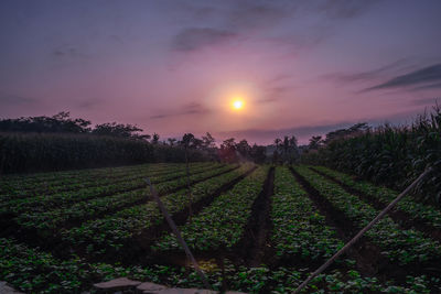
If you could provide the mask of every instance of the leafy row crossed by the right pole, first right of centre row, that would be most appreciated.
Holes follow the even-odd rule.
[[[357,196],[346,193],[340,185],[308,167],[297,166],[294,170],[356,227],[365,227],[378,215],[379,211]],[[401,230],[389,217],[381,219],[366,236],[381,248],[385,255],[400,264],[437,262],[441,257],[439,242],[424,238],[419,231]]]

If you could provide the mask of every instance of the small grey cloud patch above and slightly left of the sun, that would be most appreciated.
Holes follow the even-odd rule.
[[[172,47],[175,51],[190,52],[224,43],[236,35],[236,33],[230,31],[212,28],[189,28],[174,36]]]

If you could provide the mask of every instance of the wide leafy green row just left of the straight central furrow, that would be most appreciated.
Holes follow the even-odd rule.
[[[259,167],[211,206],[182,226],[180,231],[191,249],[209,251],[230,249],[244,235],[251,206],[262,190],[268,167]],[[155,251],[179,250],[174,235],[168,235],[153,246]]]

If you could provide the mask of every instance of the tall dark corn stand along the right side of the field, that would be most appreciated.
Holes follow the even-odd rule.
[[[327,142],[302,161],[356,174],[397,189],[404,189],[427,167],[428,179],[417,188],[424,199],[441,204],[441,109],[419,116],[410,126],[381,126],[353,138]]]

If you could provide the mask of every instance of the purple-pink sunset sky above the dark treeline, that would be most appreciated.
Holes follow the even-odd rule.
[[[438,0],[2,0],[0,118],[259,144],[406,123],[441,97],[440,15]]]

